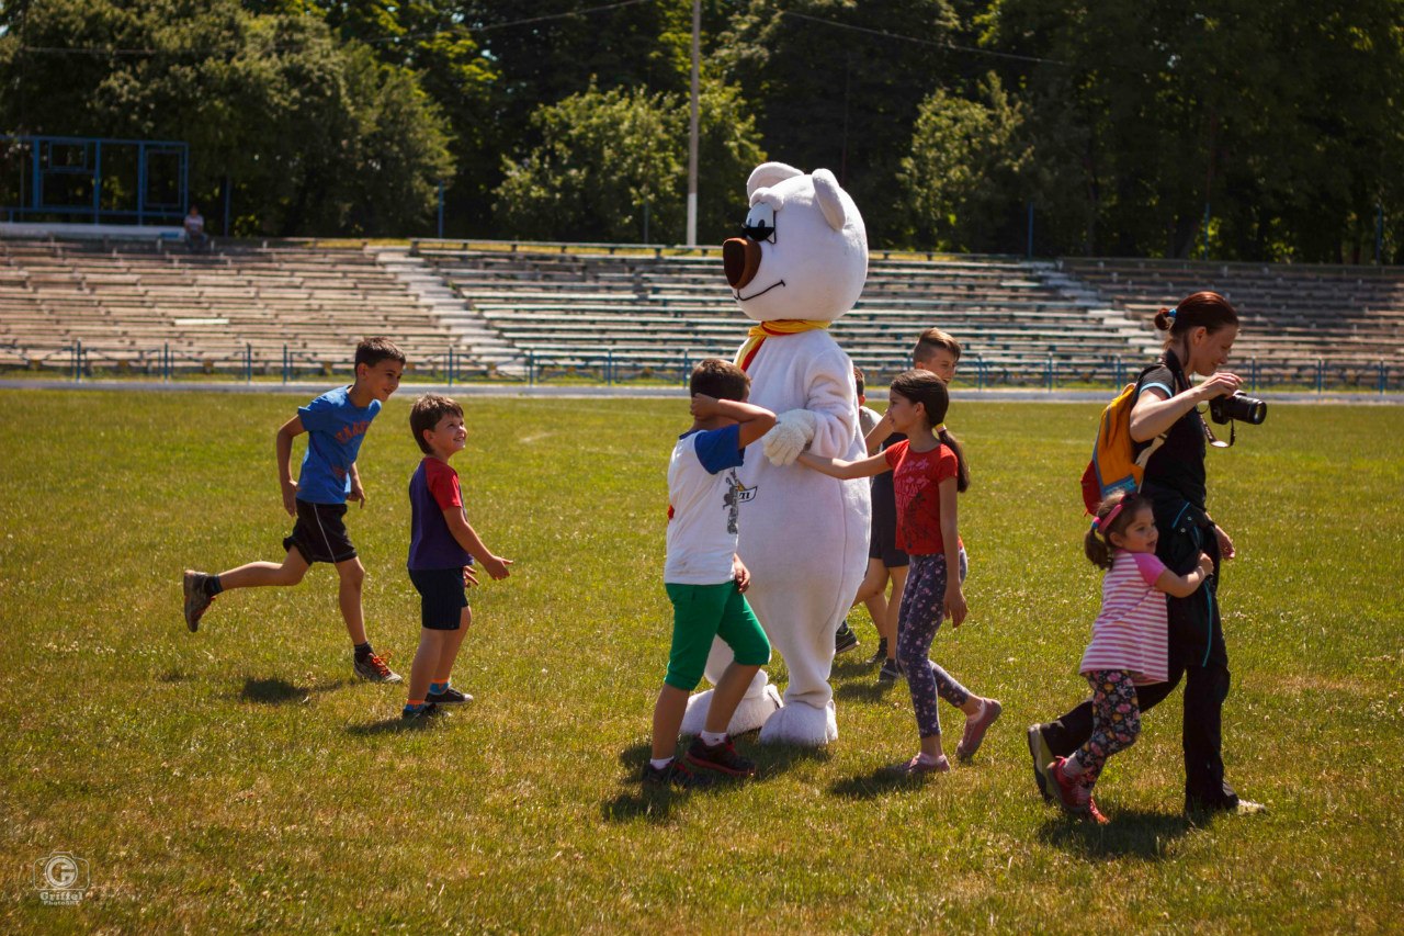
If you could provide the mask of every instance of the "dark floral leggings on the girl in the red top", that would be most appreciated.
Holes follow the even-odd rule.
[[[907,673],[911,707],[917,711],[917,731],[922,738],[941,734],[938,698],[945,698],[958,708],[970,698],[970,691],[928,656],[931,641],[941,627],[945,599],[946,557],[911,557],[907,587],[901,593],[901,610],[897,614],[897,662]]]

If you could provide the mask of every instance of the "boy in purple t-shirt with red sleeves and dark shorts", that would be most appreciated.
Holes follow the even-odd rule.
[[[410,696],[402,714],[423,718],[444,703],[472,701],[449,686],[463,634],[473,621],[466,587],[477,585],[473,559],[505,579],[511,559],[493,555],[468,523],[458,472],[448,461],[463,451],[463,408],[425,394],[410,410],[410,430],[424,460],[410,478],[410,580],[420,593],[420,649],[410,668]]]

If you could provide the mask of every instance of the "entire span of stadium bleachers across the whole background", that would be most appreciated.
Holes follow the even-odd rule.
[[[1244,316],[1236,361],[1310,382],[1327,360],[1369,385],[1404,368],[1404,273],[1164,260],[920,259],[875,253],[833,334],[870,381],[907,364],[917,332],[966,347],[972,382],[1108,381],[1157,346],[1150,319],[1200,288]],[[626,379],[730,357],[750,322],[717,249],[608,245],[222,246],[0,239],[0,367],[229,372],[284,363],[330,374],[361,334],[455,374]],[[1243,367],[1240,364],[1240,367]],[[1257,365],[1255,365],[1257,367]],[[1273,370],[1275,368],[1275,370]],[[1269,374],[1271,371],[1271,374]]]

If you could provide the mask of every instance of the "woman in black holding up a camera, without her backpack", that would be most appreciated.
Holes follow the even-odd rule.
[[[1154,505],[1155,555],[1171,572],[1184,575],[1200,552],[1207,552],[1214,571],[1189,597],[1167,596],[1170,677],[1137,689],[1140,710],[1170,696],[1184,676],[1185,810],[1257,812],[1261,805],[1240,800],[1224,781],[1220,725],[1228,696],[1228,652],[1217,586],[1220,562],[1233,558],[1234,547],[1205,507],[1205,453],[1213,433],[1199,412],[1199,405],[1210,401],[1221,401],[1221,408],[1238,391],[1238,377],[1219,370],[1238,336],[1238,313],[1217,292],[1196,292],[1174,309],[1161,309],[1155,327],[1168,333],[1165,351],[1137,379],[1130,417],[1137,455],[1153,447],[1141,490]],[[1192,374],[1206,379],[1191,384]],[[1261,415],[1254,422],[1261,422]],[[1035,779],[1045,798],[1057,794],[1047,773],[1054,755],[1068,756],[1091,732],[1091,701],[1029,728]]]

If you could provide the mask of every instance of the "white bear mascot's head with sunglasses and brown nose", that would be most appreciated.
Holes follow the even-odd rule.
[[[833,322],[851,309],[868,278],[868,230],[834,173],[762,163],[746,194],[746,236],[722,256],[747,318]]]

